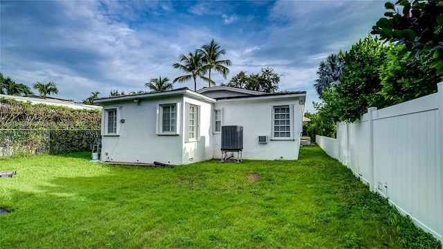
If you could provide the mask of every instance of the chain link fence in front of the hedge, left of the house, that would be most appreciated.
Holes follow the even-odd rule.
[[[17,154],[91,151],[100,130],[0,129],[0,158]]]

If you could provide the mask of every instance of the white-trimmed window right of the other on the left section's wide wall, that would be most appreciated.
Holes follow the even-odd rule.
[[[179,104],[168,103],[157,105],[157,135],[179,134]]]

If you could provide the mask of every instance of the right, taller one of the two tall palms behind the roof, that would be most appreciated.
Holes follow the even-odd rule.
[[[231,63],[229,59],[219,59],[221,55],[226,54],[226,50],[220,50],[219,44],[215,44],[213,39],[210,44],[201,46],[201,53],[203,54],[204,66],[209,71],[209,87],[211,84],[215,84],[213,80],[210,80],[210,72],[212,69],[218,73],[221,73],[226,80],[226,75],[229,73],[229,68],[226,66],[230,66]]]

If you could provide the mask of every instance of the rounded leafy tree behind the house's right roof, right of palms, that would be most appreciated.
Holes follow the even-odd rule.
[[[275,93],[278,91],[278,83],[280,83],[280,75],[274,73],[273,68],[262,68],[260,73],[251,73],[251,75],[246,75],[244,71],[240,71],[230,79],[226,86]]]

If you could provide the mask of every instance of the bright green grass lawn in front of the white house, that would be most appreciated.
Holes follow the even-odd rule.
[[[319,147],[170,168],[0,160],[1,248],[441,248]]]

